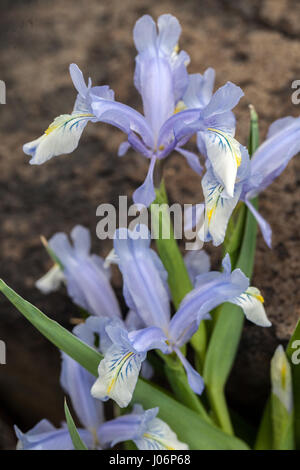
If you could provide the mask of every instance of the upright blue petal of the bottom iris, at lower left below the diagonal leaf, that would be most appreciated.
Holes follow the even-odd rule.
[[[70,356],[62,353],[61,386],[70,396],[81,424],[95,433],[104,421],[104,410],[103,404],[91,396],[90,390],[94,381],[92,374]]]

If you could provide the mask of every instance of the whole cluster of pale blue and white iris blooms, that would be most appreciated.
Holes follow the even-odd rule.
[[[137,49],[134,84],[141,95],[143,112],[115,100],[109,86],[92,86],[75,64],[70,75],[77,97],[71,114],[58,116],[44,134],[24,145],[30,163],[40,165],[76,149],[89,121],[111,124],[126,135],[118,155],[129,148],[148,159],[143,184],[133,194],[135,203],[149,206],[156,197],[153,174],[159,160],[171,152],[180,153],[190,167],[202,175],[204,214],[199,236],[220,245],[230,216],[243,201],[255,216],[266,243],[271,246],[271,228],[251,204],[300,150],[300,118],[274,122],[266,141],[250,159],[248,150],[235,139],[236,120],[232,112],[243,91],[231,82],[214,92],[215,72],[189,74],[190,58],[179,51],[179,22],[162,15],[157,25],[145,15],[133,31]],[[196,136],[198,154],[185,148]],[[200,186],[200,184],[199,184]],[[188,221],[190,225],[193,221]],[[150,246],[144,225],[133,231],[119,228],[114,237],[113,256],[106,260],[91,254],[87,229],[76,226],[71,240],[64,233],[54,235],[49,250],[59,260],[37,282],[44,293],[65,284],[75,304],[88,313],[74,334],[103,355],[96,381],[82,366],[62,354],[61,385],[70,396],[82,424],[79,434],[90,449],[133,440],[139,449],[186,449],[169,426],[157,418],[158,408],[144,411],[135,405],[131,414],[105,422],[102,402],[111,399],[119,407],[130,405],[140,373],[151,374],[149,351],[177,357],[186,372],[190,388],[201,395],[204,381],[189,362],[185,346],[209,312],[229,302],[240,306],[246,318],[262,327],[271,325],[260,291],[250,286],[240,269],[231,269],[230,256],[223,259],[222,272],[211,271],[201,251],[185,257],[193,289],[172,314],[168,273]],[[127,313],[122,315],[110,283],[110,264],[118,266],[123,278]],[[96,341],[97,340],[97,341]],[[16,428],[22,449],[71,449],[73,443],[65,424],[56,429],[46,420],[23,434]]]

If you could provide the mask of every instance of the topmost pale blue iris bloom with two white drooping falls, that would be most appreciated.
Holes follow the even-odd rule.
[[[150,161],[145,182],[133,196],[134,202],[148,206],[155,199],[155,163],[173,150],[180,152],[201,174],[198,157],[182,148],[199,132],[214,171],[224,183],[224,194],[232,196],[241,154],[233,138],[231,109],[243,92],[228,82],[205,103],[206,106],[193,100],[194,79],[189,78],[186,70],[189,56],[184,51],[178,52],[180,34],[179,22],[172,15],[161,15],[157,27],[149,15],[135,24],[133,38],[138,55],[134,83],[142,97],[144,115],[115,101],[114,92],[108,86],[92,87],[91,79],[86,84],[80,69],[71,64],[70,74],[78,92],[73,112],[58,116],[41,137],[24,145],[24,152],[32,157],[30,163],[41,164],[72,152],[89,121],[111,124],[127,135],[126,142],[119,148],[120,156],[132,147]],[[182,106],[183,98],[186,103]]]

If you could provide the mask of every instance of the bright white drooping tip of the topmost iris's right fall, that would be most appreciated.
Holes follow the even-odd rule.
[[[207,156],[215,176],[224,186],[223,197],[233,197],[237,169],[241,164],[240,144],[229,134],[208,128],[204,133]]]

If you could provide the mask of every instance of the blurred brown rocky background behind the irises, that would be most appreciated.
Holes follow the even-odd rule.
[[[90,124],[72,156],[43,166],[28,165],[23,143],[41,135],[53,118],[72,110],[75,91],[68,65],[76,62],[94,84],[109,84],[118,100],[140,108],[134,89],[132,28],[143,14],[172,13],[183,28],[181,48],[190,72],[208,66],[217,85],[231,80],[245,91],[236,109],[237,137],[245,143],[248,105],[256,106],[262,135],[275,119],[299,114],[291,83],[300,79],[300,4],[297,0],[110,0],[0,1],[0,79],[7,104],[0,105],[0,275],[18,293],[69,326],[76,309],[63,292],[43,296],[34,282],[51,262],[39,236],[89,227],[94,249],[106,255],[110,242],[97,241],[95,211],[131,195],[147,162],[131,152],[118,160],[123,136]],[[171,201],[201,200],[200,181],[179,156],[169,158]],[[256,422],[268,391],[269,360],[286,344],[300,314],[299,159],[260,198],[273,228],[273,250],[259,235],[253,283],[263,292],[273,327],[245,325],[228,393],[233,406]],[[213,253],[217,265],[220,251]],[[297,288],[298,287],[298,288]],[[58,386],[59,355],[2,297],[0,339],[7,365],[0,365],[0,448],[14,445],[12,423],[26,430],[47,417],[63,419]]]

